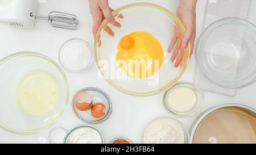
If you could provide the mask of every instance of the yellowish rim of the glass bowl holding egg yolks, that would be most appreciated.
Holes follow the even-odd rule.
[[[171,16],[172,19],[175,20],[175,22],[177,23],[177,25],[179,26],[180,30],[185,33],[185,26],[183,25],[183,23],[181,22],[181,20],[179,18],[177,18],[177,16],[175,14],[173,14],[170,10],[167,10],[166,8],[160,6],[160,5],[156,5],[154,3],[148,3],[148,2],[139,2],[139,3],[131,3],[129,5],[125,5],[122,7],[119,7],[119,9],[114,10],[113,11],[113,15],[117,16],[119,14],[119,12],[126,10],[128,8],[133,8],[133,7],[137,7],[137,6],[143,6],[143,7],[152,7],[154,9],[158,9],[161,10],[163,12],[165,12],[167,15]],[[115,89],[121,91],[122,93],[125,93],[127,95],[133,95],[133,96],[137,96],[137,97],[148,97],[148,96],[152,96],[152,95],[156,95],[156,94],[160,94],[163,91],[166,91],[168,88],[170,88],[172,85],[174,85],[177,81],[179,81],[179,79],[181,78],[181,76],[184,74],[185,70],[187,69],[188,66],[188,62],[189,62],[189,55],[191,53],[191,46],[190,43],[188,44],[188,47],[186,48],[186,52],[187,53],[187,59],[184,61],[184,65],[182,67],[182,69],[180,69],[179,73],[176,75],[176,77],[174,79],[172,79],[171,82],[169,82],[167,85],[165,85],[164,87],[161,87],[158,90],[154,90],[154,91],[150,91],[147,93],[136,93],[133,91],[128,91],[120,86],[118,86],[117,84],[115,84],[112,79],[110,79],[106,73],[104,72],[104,69],[102,69],[102,67],[100,65],[98,65],[98,62],[100,61],[100,58],[98,57],[98,40],[100,39],[100,33],[101,31],[104,31],[104,27],[106,26],[106,24],[108,24],[108,20],[104,20],[100,26],[100,28],[97,31],[97,35],[94,39],[94,57],[96,60],[96,65],[98,68],[98,71],[101,72],[101,74],[106,78],[106,81],[113,86]]]

